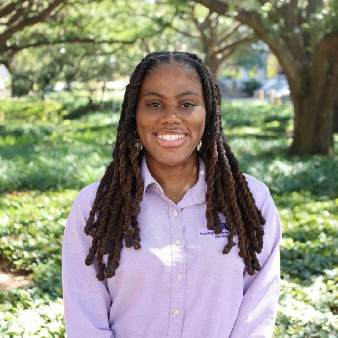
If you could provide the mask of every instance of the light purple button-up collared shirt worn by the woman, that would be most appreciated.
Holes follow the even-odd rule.
[[[249,276],[238,246],[222,250],[230,233],[207,228],[205,168],[177,203],[151,176],[145,159],[138,216],[141,249],[123,247],[116,275],[99,282],[96,261],[84,261],[91,237],[83,228],[99,182],[81,190],[63,240],[63,292],[68,338],[272,337],[280,282],[281,224],[268,188],[246,175],[266,219],[262,270]],[[234,237],[237,243],[238,236]],[[106,262],[106,257],[104,257]]]

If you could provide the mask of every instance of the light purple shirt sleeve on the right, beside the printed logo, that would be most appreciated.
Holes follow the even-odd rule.
[[[258,199],[257,206],[266,220],[263,249],[261,254],[257,254],[262,269],[253,276],[245,270],[243,299],[231,338],[271,338],[276,321],[280,292],[281,222],[266,186],[261,189]]]

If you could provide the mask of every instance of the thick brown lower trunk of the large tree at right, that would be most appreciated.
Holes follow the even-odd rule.
[[[330,47],[330,46],[329,46]],[[333,154],[333,111],[338,97],[338,62],[324,48],[289,81],[294,107],[291,154]]]

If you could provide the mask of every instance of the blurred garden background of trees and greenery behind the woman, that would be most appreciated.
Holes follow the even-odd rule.
[[[206,62],[242,171],[276,202],[274,337],[338,337],[338,0],[0,0],[1,337],[66,337],[66,218],[155,50]]]

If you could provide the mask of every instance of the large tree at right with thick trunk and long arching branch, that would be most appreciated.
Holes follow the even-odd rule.
[[[333,153],[338,0],[196,0],[251,27],[276,55],[294,107],[291,154]]]

